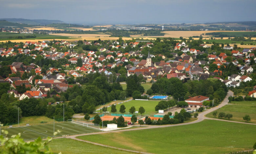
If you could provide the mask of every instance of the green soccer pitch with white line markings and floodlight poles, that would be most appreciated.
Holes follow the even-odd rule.
[[[12,135],[18,133],[21,134],[21,138],[24,140],[32,140],[38,137],[46,138],[53,137],[53,124],[46,125],[32,125],[32,126],[20,126],[13,128],[5,128],[8,131],[8,135],[2,134],[4,137],[10,138]],[[65,123],[56,123],[54,125],[54,131],[60,131],[56,136],[63,135],[74,135],[74,134],[83,134],[83,133],[92,133],[98,132],[99,129],[83,126],[81,124],[65,122]],[[55,136],[55,137],[56,137]]]

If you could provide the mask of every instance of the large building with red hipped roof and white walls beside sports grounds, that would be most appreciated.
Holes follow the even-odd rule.
[[[188,103],[188,107],[195,107],[195,108],[200,108],[203,106],[203,101],[208,101],[209,97],[206,96],[195,96],[191,97],[189,99],[186,99],[185,102]],[[206,106],[203,106],[206,107]]]

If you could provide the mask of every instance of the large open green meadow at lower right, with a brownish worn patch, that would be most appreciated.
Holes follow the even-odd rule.
[[[77,138],[150,153],[228,153],[252,149],[256,125],[216,120],[166,128],[79,136]]]

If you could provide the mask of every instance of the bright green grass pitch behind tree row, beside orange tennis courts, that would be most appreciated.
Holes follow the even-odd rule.
[[[142,106],[146,110],[146,115],[153,115],[156,113],[155,107],[158,105],[159,101],[136,101],[132,100],[129,102],[125,102],[122,104],[117,104],[117,112],[119,113],[119,108],[121,105],[124,105],[126,107],[125,111],[129,112],[129,109],[134,106],[136,108],[136,111],[139,111],[139,107]],[[108,107],[108,111],[111,111],[111,107]]]

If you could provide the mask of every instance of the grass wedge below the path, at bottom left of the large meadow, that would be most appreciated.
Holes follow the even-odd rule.
[[[131,154],[129,152],[120,151],[112,148],[102,147],[94,144],[89,144],[73,139],[54,139],[50,142],[49,147],[53,153],[62,154],[81,154],[81,153],[92,153],[92,154]]]

